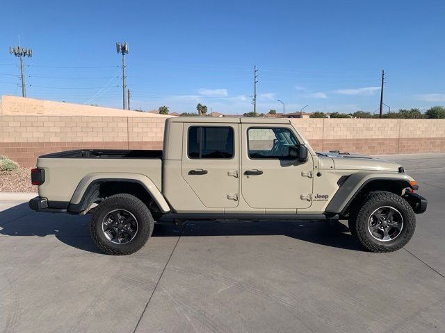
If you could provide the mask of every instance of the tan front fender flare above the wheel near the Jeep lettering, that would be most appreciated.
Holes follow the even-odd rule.
[[[410,181],[414,180],[405,173],[369,173],[357,172],[350,175],[334,194],[325,212],[343,215],[348,210],[350,203],[367,184],[375,180],[385,180],[388,182],[403,182],[406,187],[411,187]]]

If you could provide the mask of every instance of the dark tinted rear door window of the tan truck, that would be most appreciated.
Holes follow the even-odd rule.
[[[234,129],[219,126],[188,128],[188,157],[229,159],[234,157]]]

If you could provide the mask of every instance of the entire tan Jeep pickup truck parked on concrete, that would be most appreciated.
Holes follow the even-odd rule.
[[[143,247],[154,221],[189,219],[348,219],[365,248],[389,252],[427,205],[400,165],[316,153],[289,119],[170,118],[162,151],[51,153],[31,176],[33,210],[91,212],[92,239],[112,255]]]

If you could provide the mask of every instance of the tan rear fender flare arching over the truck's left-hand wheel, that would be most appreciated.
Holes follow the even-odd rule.
[[[85,205],[84,201],[92,186],[99,182],[106,181],[137,182],[152,196],[161,212],[170,212],[170,206],[161,194],[161,191],[159,191],[151,179],[140,173],[88,173],[88,175],[82,178],[79,185],[77,185],[70,200],[68,211],[81,212],[82,210],[86,210],[88,207],[83,207]]]

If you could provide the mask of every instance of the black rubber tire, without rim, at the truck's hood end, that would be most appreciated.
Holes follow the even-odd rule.
[[[379,207],[394,207],[403,217],[403,228],[398,236],[391,241],[379,241],[372,237],[368,229],[368,221]],[[392,252],[403,248],[410,241],[416,229],[416,215],[407,201],[397,194],[387,191],[373,191],[364,199],[362,207],[357,210],[355,221],[350,222],[359,242],[371,252]]]

